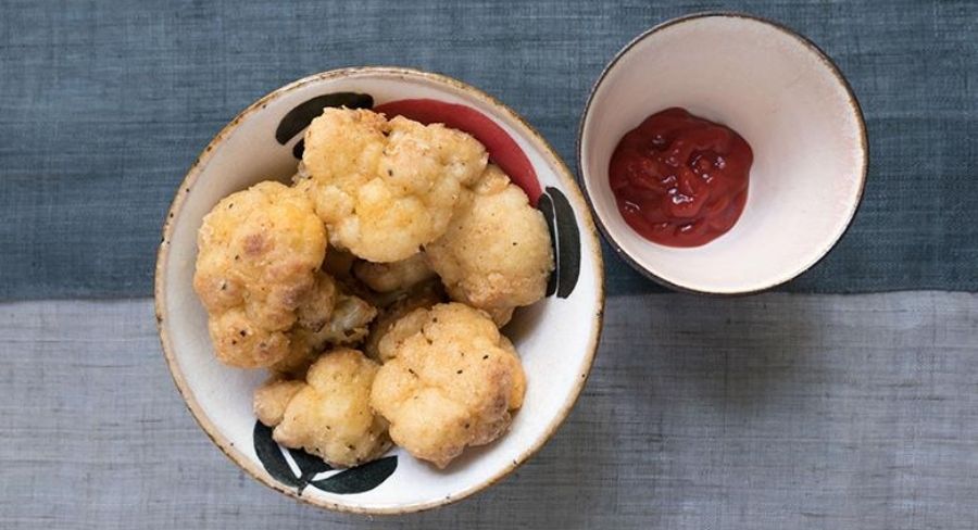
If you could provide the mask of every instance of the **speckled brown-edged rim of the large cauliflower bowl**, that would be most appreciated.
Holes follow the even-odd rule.
[[[356,75],[397,75],[402,77],[411,77],[414,79],[423,79],[428,81],[434,81],[435,84],[448,86],[450,88],[460,90],[464,92],[467,97],[472,97],[488,106],[498,110],[501,114],[505,115],[521,127],[524,128],[524,132],[526,136],[536,143],[536,147],[541,149],[541,154],[547,162],[551,164],[551,166],[555,169],[555,174],[563,185],[563,189],[561,191],[565,192],[567,199],[574,204],[574,212],[579,217],[579,225],[581,228],[582,237],[587,237],[591,242],[591,253],[592,260],[594,260],[594,272],[597,274],[595,288],[597,292],[597,304],[595,311],[592,313],[594,315],[594,326],[592,327],[592,332],[589,338],[588,344],[585,351],[585,363],[584,368],[581,370],[580,377],[576,378],[574,387],[570,388],[567,393],[564,403],[561,406],[559,413],[550,420],[550,422],[546,426],[546,429],[537,440],[535,440],[530,446],[521,453],[516,458],[513,459],[507,466],[501,468],[498,472],[496,472],[492,477],[479,482],[475,485],[468,487],[461,492],[446,496],[443,499],[439,499],[436,501],[430,501],[427,503],[417,503],[417,504],[409,504],[402,506],[392,506],[392,507],[384,507],[384,508],[365,508],[362,506],[351,506],[341,503],[333,503],[328,501],[323,501],[319,499],[313,499],[310,496],[298,495],[296,491],[285,488],[281,484],[277,483],[273,480],[268,480],[266,478],[266,474],[263,474],[259,470],[258,466],[254,466],[250,459],[244,456],[235,445],[218,431],[216,426],[211,422],[210,418],[203,413],[202,408],[197,402],[197,399],[193,395],[193,392],[187,384],[187,381],[180,370],[179,366],[175,361],[174,346],[170,340],[170,329],[167,323],[164,321],[164,315],[166,314],[166,275],[164,274],[165,263],[167,262],[167,257],[170,254],[170,239],[173,236],[173,227],[174,219],[177,218],[180,210],[183,209],[184,201],[186,197],[189,194],[190,190],[193,187],[193,184],[197,181],[198,177],[200,177],[201,171],[200,167],[203,163],[206,163],[214,151],[214,148],[221,144],[225,138],[230,135],[240,122],[248,117],[250,114],[258,112],[263,109],[269,101],[273,101],[285,93],[291,92],[300,87],[309,85],[311,83],[316,83],[319,80],[342,78],[349,76]],[[581,193],[580,189],[577,186],[577,181],[574,179],[570,169],[563,162],[563,160],[557,155],[557,153],[553,150],[550,143],[543,138],[540,132],[538,132],[532,126],[530,126],[521,115],[518,115],[515,111],[510,109],[506,104],[497,100],[492,96],[484,92],[482,90],[475,88],[471,85],[462,83],[457,79],[449,77],[442,74],[436,74],[431,72],[424,72],[415,68],[409,68],[403,66],[351,66],[343,67],[337,70],[330,70],[326,72],[321,72],[318,74],[313,74],[301,79],[297,79],[288,85],[285,85],[261,97],[254,103],[250,104],[243,111],[238,113],[230,123],[224,126],[217,135],[208,143],[204,150],[198,155],[197,160],[191,164],[187,175],[184,177],[184,180],[180,182],[177,188],[176,194],[174,197],[173,202],[171,203],[170,209],[167,210],[166,217],[163,222],[162,229],[162,238],[160,241],[160,248],[156,252],[156,265],[154,268],[154,286],[153,286],[153,298],[154,298],[154,308],[155,308],[155,317],[156,317],[156,329],[160,335],[160,342],[162,344],[163,357],[166,361],[166,365],[170,369],[170,374],[173,377],[174,384],[176,384],[177,391],[180,393],[180,398],[184,400],[184,404],[187,406],[187,409],[190,412],[190,415],[197,421],[198,426],[200,426],[201,430],[211,439],[214,445],[224,453],[231,462],[235,463],[238,467],[243,469],[248,475],[250,475],[253,479],[258,480],[260,483],[279,492],[285,495],[292,497],[293,500],[301,501],[321,508],[330,509],[334,512],[343,512],[343,513],[352,513],[360,515],[401,515],[401,514],[410,514],[415,512],[423,512],[427,509],[437,508],[439,506],[444,506],[457,501],[461,501],[465,497],[468,497],[475,493],[478,493],[490,485],[499,482],[503,478],[507,477],[510,474],[515,471],[519,466],[526,463],[530,457],[536,455],[547,442],[553,438],[556,433],[557,429],[563,425],[564,420],[570,414],[570,411],[574,408],[574,405],[577,403],[578,398],[580,396],[581,391],[587,383],[588,376],[590,375],[591,368],[593,367],[594,357],[598,352],[598,345],[601,341],[601,332],[603,330],[603,316],[604,316],[604,261],[601,255],[601,241],[598,236],[598,229],[594,225],[594,219],[591,215],[591,211],[588,207],[588,203],[584,198],[584,193]]]

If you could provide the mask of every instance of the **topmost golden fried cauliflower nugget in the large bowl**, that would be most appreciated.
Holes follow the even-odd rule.
[[[405,260],[442,234],[462,188],[486,167],[486,149],[440,124],[387,121],[368,110],[326,109],[305,131],[312,199],[333,244],[364,260]]]

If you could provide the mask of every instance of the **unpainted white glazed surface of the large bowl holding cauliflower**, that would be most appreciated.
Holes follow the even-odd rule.
[[[469,450],[446,470],[419,463],[397,450],[398,468],[379,487],[364,493],[335,494],[306,488],[302,496],[315,504],[368,513],[397,513],[436,506],[488,485],[522,463],[548,438],[573,405],[590,368],[599,333],[601,264],[597,238],[576,190],[568,189],[546,148],[512,117],[472,92],[438,78],[404,71],[359,71],[346,76],[324,76],[285,90],[264,109],[247,114],[213,151],[205,153],[189,189],[181,189],[183,205],[172,219],[168,253],[162,264],[164,342],[178,383],[192,412],[210,434],[240,465],[267,483],[276,483],[256,457],[252,443],[255,417],[252,391],[263,370],[242,370],[222,365],[212,353],[206,314],[191,288],[197,256],[197,230],[202,217],[223,197],[263,179],[287,179],[296,171],[293,138],[288,146],[275,140],[281,117],[296,105],[324,93],[366,92],[376,103],[409,98],[431,98],[462,103],[481,111],[516,140],[532,163],[542,187],[567,195],[580,227],[580,276],[566,299],[550,296],[517,311],[505,329],[523,358],[528,387],[523,408],[511,431],[485,447]],[[573,186],[573,184],[570,185]],[[585,217],[581,217],[584,212]],[[158,286],[159,287],[159,286]],[[287,489],[284,484],[280,488]]]

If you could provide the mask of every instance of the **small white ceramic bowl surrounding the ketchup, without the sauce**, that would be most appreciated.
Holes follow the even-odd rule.
[[[740,219],[697,248],[643,239],[609,185],[622,137],[672,106],[731,127],[754,152]],[[668,287],[714,294],[772,288],[825,256],[855,214],[867,161],[860,105],[831,60],[797,33],[742,14],[674,20],[628,43],[594,85],[578,136],[585,191],[618,254]]]

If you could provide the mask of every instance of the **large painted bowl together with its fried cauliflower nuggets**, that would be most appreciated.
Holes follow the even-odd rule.
[[[156,320],[203,430],[261,482],[366,514],[514,470],[590,370],[603,269],[573,176],[513,111],[406,68],[308,77],[180,186]]]

